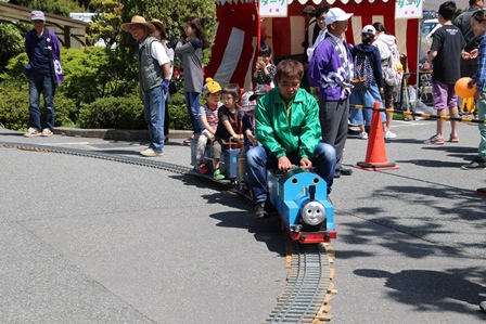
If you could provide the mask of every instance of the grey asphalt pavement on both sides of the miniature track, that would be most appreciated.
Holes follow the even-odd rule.
[[[484,170],[475,125],[421,143],[435,122],[395,121],[400,169],[336,179],[333,323],[483,323]],[[446,130],[449,126],[446,125]],[[161,159],[189,166],[180,139]],[[40,143],[137,156],[144,143],[53,135]],[[350,137],[348,166],[367,141]],[[0,148],[1,323],[261,323],[285,285],[277,223],[191,177],[55,153]]]

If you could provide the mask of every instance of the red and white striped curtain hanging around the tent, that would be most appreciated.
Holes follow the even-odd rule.
[[[300,3],[304,2],[304,3]],[[318,8],[330,3],[331,7],[354,13],[350,18],[346,39],[356,44],[361,41],[361,29],[368,24],[381,22],[385,28],[397,38],[400,52],[407,55],[408,70],[417,70],[418,20],[395,20],[395,1],[393,0],[350,0],[321,2],[289,1],[289,16],[279,18],[265,18],[265,42],[273,49],[273,55],[289,56],[304,53],[305,21],[300,15],[308,5]],[[260,20],[258,17],[257,1],[250,0],[220,0],[216,3],[218,29],[215,44],[212,50],[212,60],[205,68],[206,76],[213,77],[221,85],[235,82],[246,90],[251,89],[252,69],[257,56],[260,34]],[[409,79],[414,83],[414,79]]]

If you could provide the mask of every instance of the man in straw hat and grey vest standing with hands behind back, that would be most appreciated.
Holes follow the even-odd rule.
[[[162,156],[164,151],[165,96],[168,93],[170,60],[162,43],[150,34],[155,26],[135,15],[131,23],[122,25],[138,43],[139,79],[143,92],[144,117],[149,126],[150,145],[143,156]]]

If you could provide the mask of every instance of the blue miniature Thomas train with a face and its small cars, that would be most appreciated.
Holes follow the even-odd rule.
[[[196,142],[191,144],[191,165],[197,170]],[[207,177],[213,174],[212,145],[208,144],[203,158]],[[239,148],[223,150],[219,169],[225,180],[243,194],[250,193],[245,183],[244,160]],[[328,199],[328,185],[317,173],[295,168],[286,173],[267,171],[269,203],[274,207],[285,231],[293,241],[303,244],[330,242],[336,238],[334,207]]]

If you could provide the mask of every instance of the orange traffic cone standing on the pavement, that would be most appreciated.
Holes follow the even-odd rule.
[[[399,169],[398,166],[386,159],[382,116],[379,109],[380,102],[376,101],[373,104],[373,117],[371,118],[371,129],[368,139],[367,159],[357,163],[355,168],[368,171]]]

